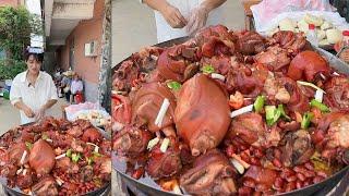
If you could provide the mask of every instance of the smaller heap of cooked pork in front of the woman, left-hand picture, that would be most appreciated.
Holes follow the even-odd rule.
[[[25,194],[83,195],[110,181],[110,154],[88,121],[47,118],[0,138],[0,175]]]

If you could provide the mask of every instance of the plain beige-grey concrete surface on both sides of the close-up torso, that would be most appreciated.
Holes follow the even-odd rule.
[[[157,42],[154,12],[139,0],[111,0],[112,66],[139,51]],[[231,29],[244,28],[243,8],[238,0],[227,0],[222,5],[222,24]]]

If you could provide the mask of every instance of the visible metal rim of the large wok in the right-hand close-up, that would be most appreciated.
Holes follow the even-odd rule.
[[[181,38],[177,38],[177,39],[172,39],[172,40],[168,40],[165,42],[160,42],[157,44],[155,46],[157,47],[170,47],[173,45],[178,45],[178,44],[182,44],[184,41],[186,41],[189,39],[189,37],[181,37]],[[349,65],[347,63],[345,63],[344,61],[339,60],[338,58],[336,58],[334,54],[327,52],[326,50],[323,50],[321,48],[316,48],[315,50],[317,50],[322,56],[324,56],[328,62],[330,63],[332,66],[334,66],[336,70],[338,70],[341,73],[346,73],[349,75]],[[123,61],[129,60],[131,57],[124,59]],[[115,73],[115,71],[117,71],[121,63],[123,62],[121,61],[120,63],[118,63],[113,69],[111,73]],[[113,169],[117,171],[117,173],[119,173],[119,175],[121,176],[121,181],[123,181],[125,184],[133,186],[134,188],[139,189],[141,193],[146,194],[146,195],[177,195],[170,192],[166,192],[163,191],[159,185],[157,185],[151,177],[145,176],[142,177],[140,180],[135,180],[133,177],[131,177],[130,175],[128,175],[125,173],[125,169],[127,169],[127,163],[124,161],[124,159],[120,159],[119,157],[117,157],[115,155],[115,152],[111,155],[111,160],[112,160],[112,167]],[[328,194],[332,189],[334,189],[334,187],[336,185],[338,185],[338,183],[341,182],[339,184],[339,186],[337,186],[335,192],[332,192],[333,195],[342,195],[346,191],[346,188],[349,186],[349,166],[347,166],[346,168],[342,168],[340,171],[338,171],[337,173],[333,174],[332,176],[327,177],[325,181],[322,181],[320,183],[316,184],[312,184],[310,186],[300,188],[300,189],[296,189],[292,192],[288,192],[285,194],[281,194],[282,196],[311,196],[311,195],[326,195]]]

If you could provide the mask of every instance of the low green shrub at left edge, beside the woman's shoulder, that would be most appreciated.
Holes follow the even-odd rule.
[[[24,61],[19,60],[1,60],[0,61],[0,81],[1,79],[13,79],[19,73],[26,70]]]

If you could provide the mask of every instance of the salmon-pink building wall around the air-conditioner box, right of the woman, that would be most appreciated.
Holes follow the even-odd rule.
[[[74,68],[73,70],[82,76],[85,84],[85,98],[96,101],[98,87],[98,73],[101,54],[101,34],[104,17],[104,0],[96,0],[94,17],[81,21],[65,39],[65,45],[58,49],[59,64],[64,70],[70,68],[70,47],[74,40]],[[97,56],[85,57],[85,44],[97,40]]]

